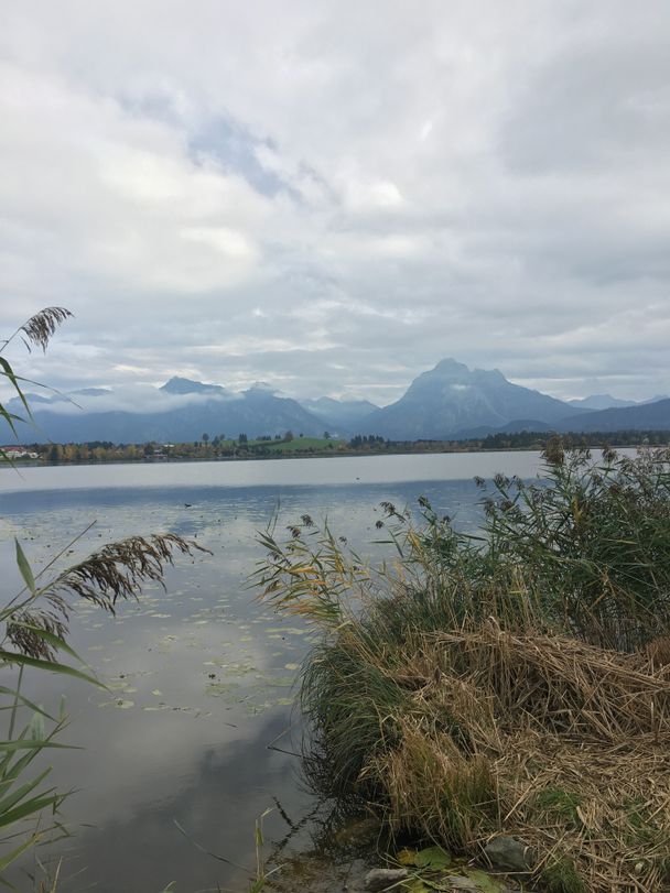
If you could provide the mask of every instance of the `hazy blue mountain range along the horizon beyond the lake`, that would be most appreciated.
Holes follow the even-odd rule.
[[[293,400],[259,382],[236,393],[219,384],[172,378],[161,388],[87,388],[67,395],[31,394],[26,443],[180,443],[247,434],[305,436],[376,434],[391,440],[458,439],[498,432],[670,429],[670,399],[633,403],[596,394],[564,402],[512,384],[497,369],[468,369],[444,359],[420,374],[400,400],[379,407],[332,398]],[[19,401],[7,409],[22,414]]]

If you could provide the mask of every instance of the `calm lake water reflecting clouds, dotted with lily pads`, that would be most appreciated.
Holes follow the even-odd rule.
[[[305,513],[327,518],[349,544],[377,554],[381,500],[415,509],[425,495],[474,527],[475,475],[528,478],[539,468],[536,453],[487,453],[0,469],[7,598],[21,588],[14,536],[35,570],[63,548],[60,566],[150,532],[196,537],[213,553],[177,560],[165,592],[145,587],[116,618],[76,606],[71,644],[111,691],[28,678],[30,696],[47,708],[66,695],[71,725],[61,740],[83,748],[52,761],[58,786],[77,789],[63,807],[73,836],[40,850],[42,860],[64,860],[58,889],[246,889],[255,821],[268,808],[267,853],[310,846],[320,805],[287,751],[300,749],[294,683],[315,640],[255,601],[247,585],[262,557],[256,532],[278,508],[280,527]],[[29,889],[23,881],[19,889]]]

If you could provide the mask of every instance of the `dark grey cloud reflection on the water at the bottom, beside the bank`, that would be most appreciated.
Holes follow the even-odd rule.
[[[296,775],[299,761],[267,748],[284,729],[283,717],[272,716],[256,722],[244,739],[201,747],[187,776],[168,774],[160,798],[136,798],[132,808],[80,831],[66,862],[71,873],[87,869],[76,889],[88,889],[94,879],[100,893],[158,891],[171,881],[185,892],[216,890],[217,883],[245,889],[245,872],[205,856],[193,841],[252,871],[255,820],[273,806],[278,792],[294,821],[310,812],[312,801],[301,793]],[[277,809],[264,820],[269,847],[289,830]]]

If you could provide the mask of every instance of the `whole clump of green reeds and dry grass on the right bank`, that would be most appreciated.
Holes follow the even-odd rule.
[[[511,836],[551,893],[668,889],[670,451],[545,462],[496,478],[477,538],[387,503],[370,567],[304,516],[261,534],[257,582],[323,629],[302,704],[329,793],[475,860]]]

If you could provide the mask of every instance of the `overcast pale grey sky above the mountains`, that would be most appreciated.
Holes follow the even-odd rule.
[[[401,396],[445,357],[670,393],[667,0],[0,4],[17,371]],[[7,337],[2,335],[2,337]]]

